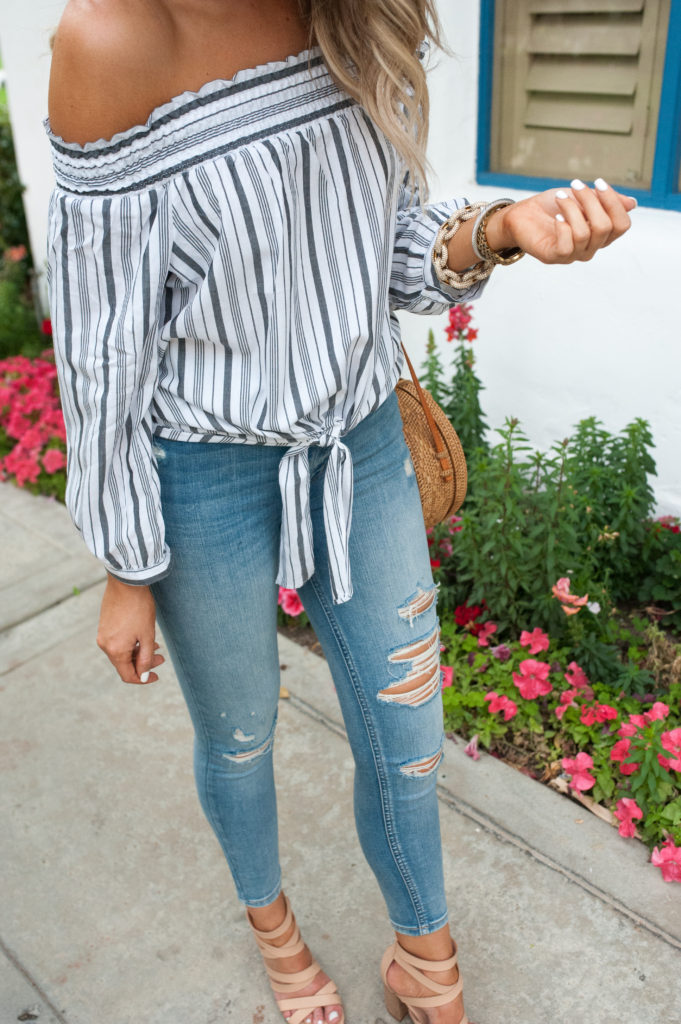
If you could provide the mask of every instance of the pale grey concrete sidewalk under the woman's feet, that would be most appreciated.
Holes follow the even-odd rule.
[[[117,681],[94,643],[103,573],[63,508],[0,484],[0,1024],[281,1021],[198,806],[172,670]],[[287,891],[348,1024],[391,1024],[327,666],[284,639],[281,663]],[[472,1021],[681,1024],[681,887],[641,844],[462,743],[439,784]]]

